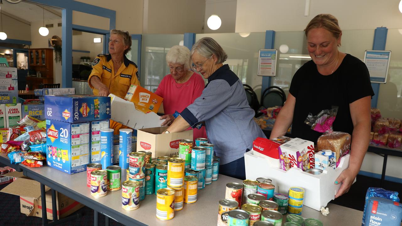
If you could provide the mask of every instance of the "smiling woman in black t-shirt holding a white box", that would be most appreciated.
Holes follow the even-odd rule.
[[[361,60],[338,50],[342,31],[330,14],[319,14],[304,30],[312,58],[293,76],[287,101],[273,127],[271,138],[285,135],[292,124],[292,137],[317,142],[322,134],[304,123],[308,113],[317,115],[338,106],[334,131],[352,135],[349,168],[335,184],[342,183],[335,197],[351,187],[369,145],[370,105],[374,95],[369,72]]]

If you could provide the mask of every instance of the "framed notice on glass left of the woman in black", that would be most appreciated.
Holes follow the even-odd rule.
[[[258,54],[258,76],[275,76],[276,49],[260,49]]]

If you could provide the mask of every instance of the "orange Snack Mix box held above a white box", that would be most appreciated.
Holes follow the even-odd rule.
[[[135,109],[144,113],[152,111],[157,113],[163,101],[162,97],[159,97],[146,88],[134,84],[130,85],[124,99],[133,102]]]

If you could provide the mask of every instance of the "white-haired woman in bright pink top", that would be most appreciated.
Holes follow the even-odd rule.
[[[162,126],[169,126],[173,120],[175,111],[182,112],[192,104],[204,90],[204,80],[201,75],[190,69],[190,50],[183,45],[175,45],[166,54],[170,74],[166,75],[155,91],[156,95],[163,97],[163,109],[165,115],[160,119],[166,119]],[[190,127],[191,128],[191,127]],[[193,138],[207,138],[205,126],[193,130]]]

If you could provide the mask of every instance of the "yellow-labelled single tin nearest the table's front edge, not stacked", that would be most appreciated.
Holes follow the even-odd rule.
[[[156,217],[160,220],[174,218],[174,190],[162,188],[156,192]]]

